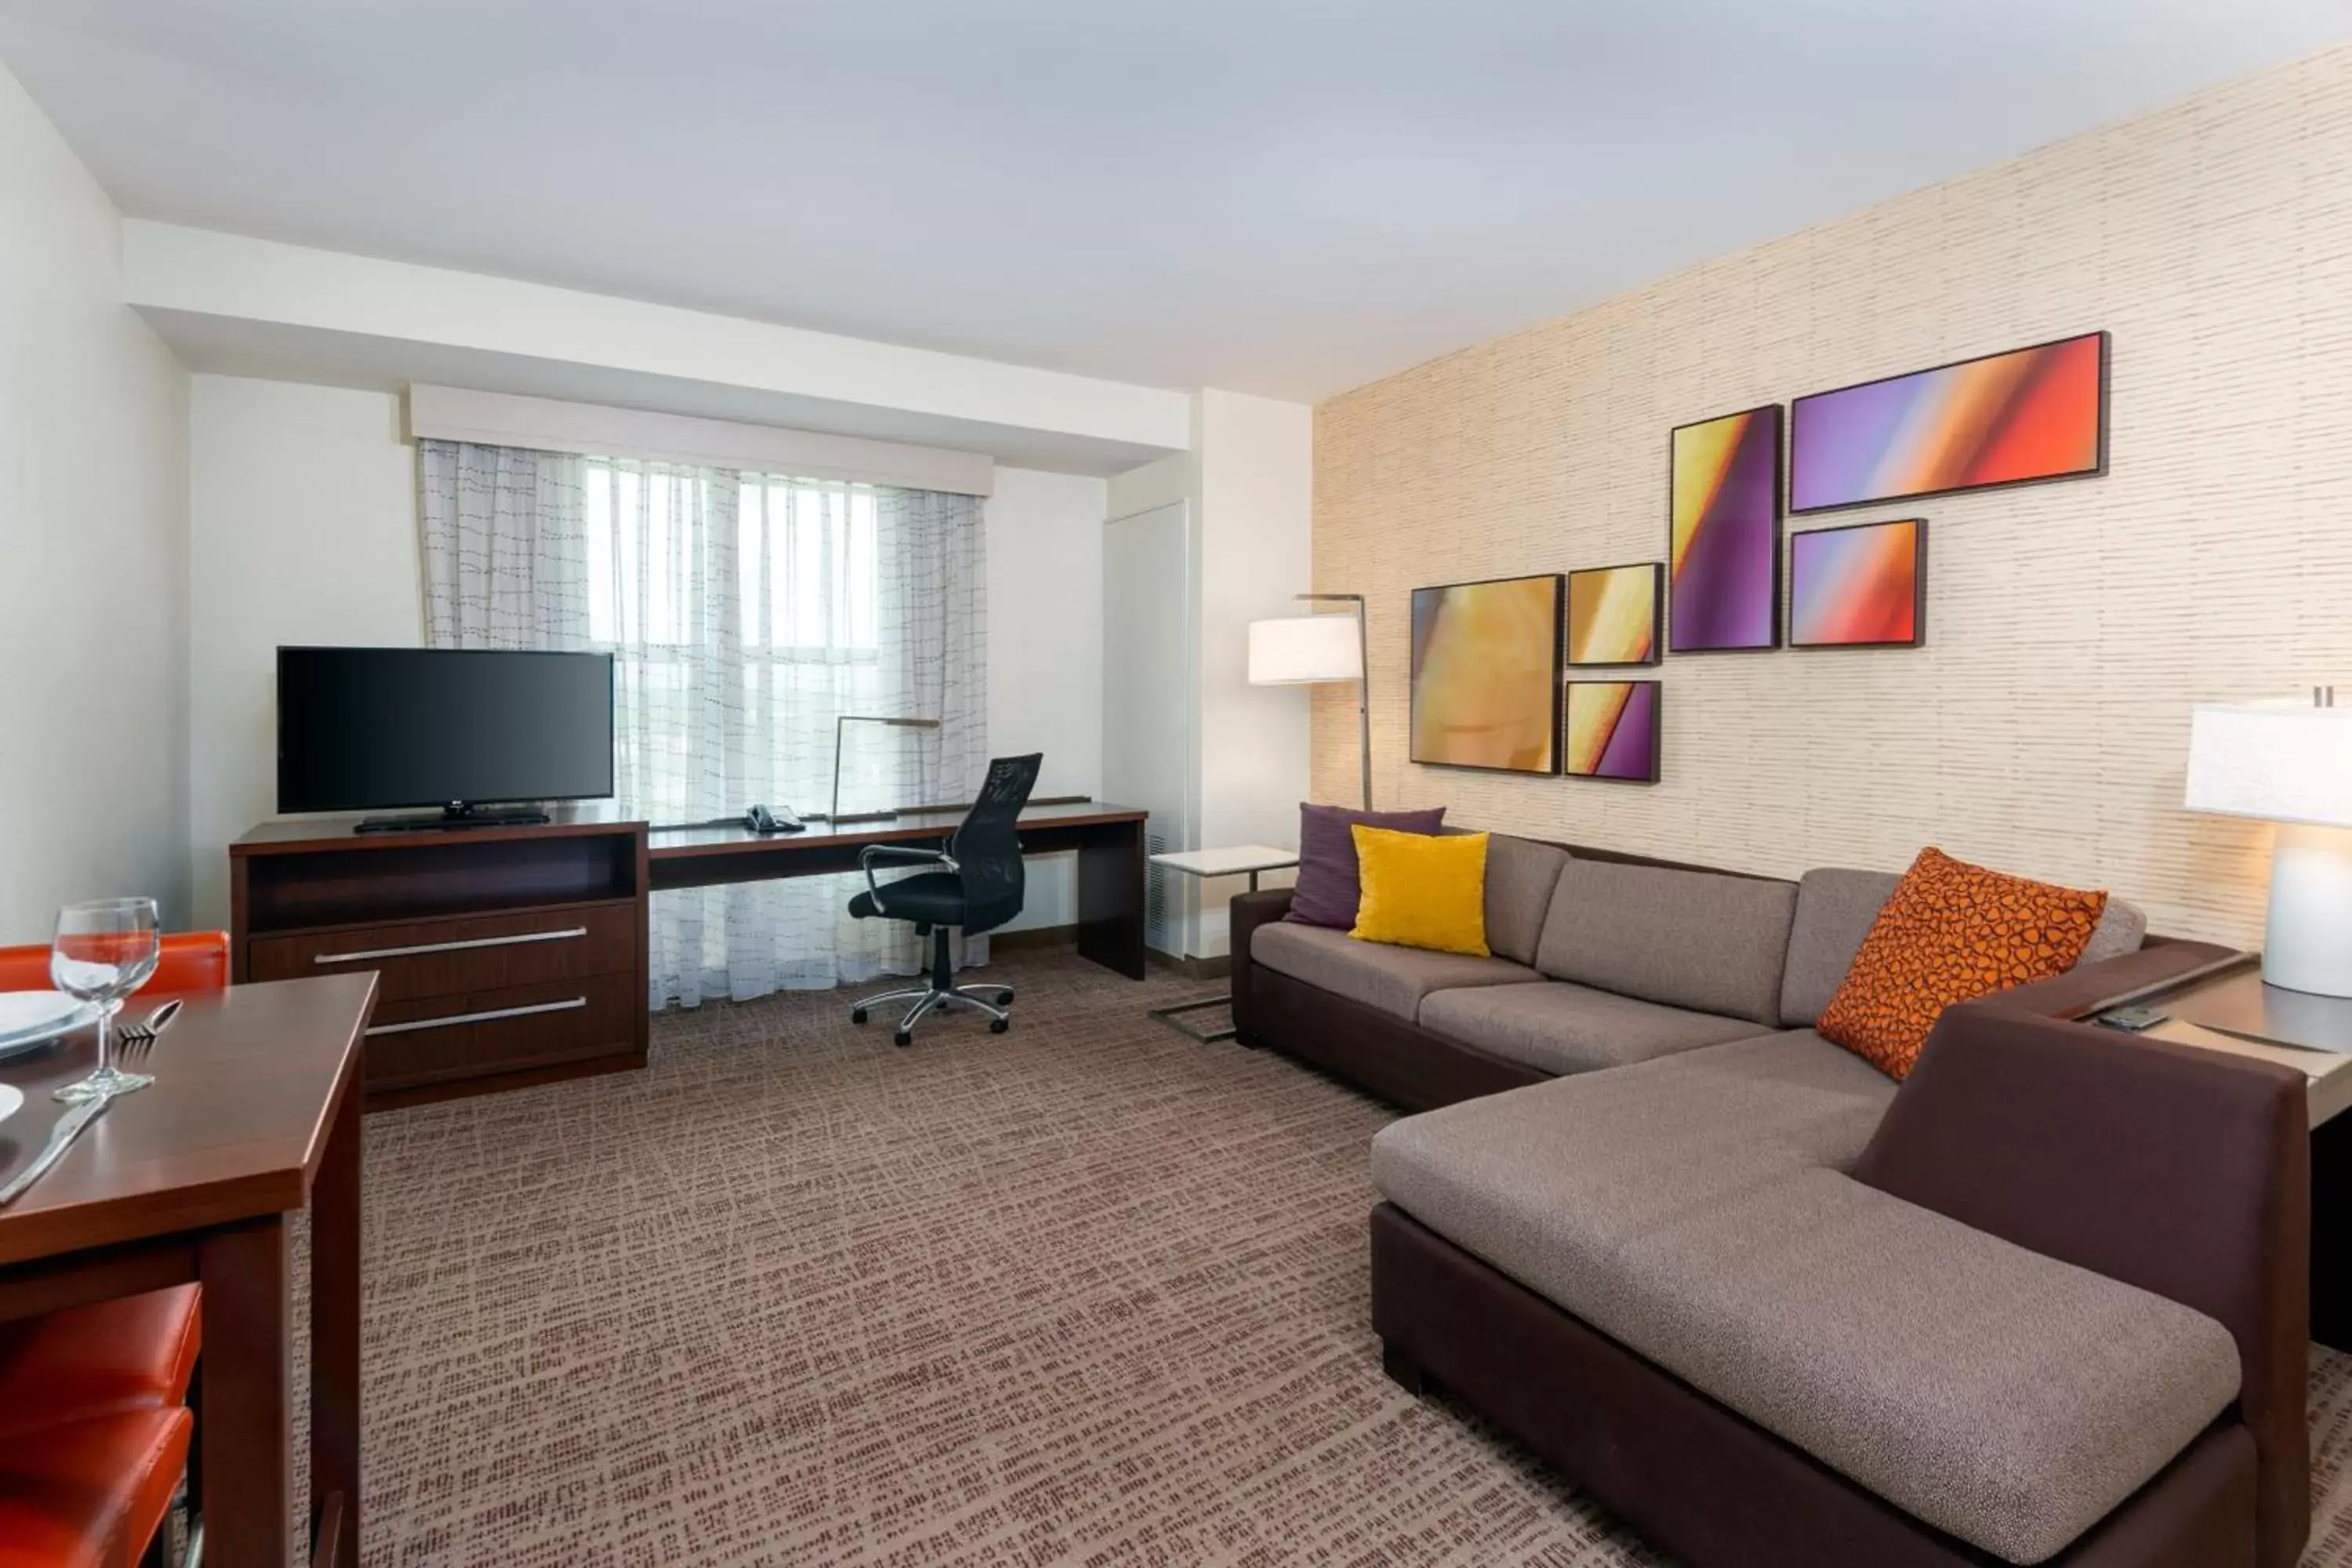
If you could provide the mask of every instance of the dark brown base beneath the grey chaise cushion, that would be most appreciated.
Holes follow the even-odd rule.
[[[1425,1382],[1451,1389],[1691,1563],[1999,1563],[1726,1410],[1392,1204],[1371,1213],[1371,1326],[1399,1385],[1416,1394]],[[2253,1439],[2232,1410],[2051,1561],[2249,1568],[2253,1497]]]

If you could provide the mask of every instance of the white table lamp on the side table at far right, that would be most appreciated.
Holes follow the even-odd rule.
[[[2352,708],[2336,686],[2190,712],[2190,811],[2279,825],[2263,980],[2352,997]]]

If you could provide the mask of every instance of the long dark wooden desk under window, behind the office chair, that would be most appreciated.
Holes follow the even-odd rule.
[[[1077,851],[1077,950],[1129,980],[1143,978],[1143,823],[1148,811],[1082,802],[1021,813],[1023,853]],[[816,877],[858,870],[868,844],[941,844],[962,811],[901,811],[882,823],[760,837],[743,827],[675,827],[652,835],[654,891]]]

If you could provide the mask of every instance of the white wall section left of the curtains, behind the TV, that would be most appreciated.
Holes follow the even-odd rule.
[[[278,644],[423,644],[400,397],[195,376],[188,407],[188,853],[228,922],[228,844],[278,813]]]

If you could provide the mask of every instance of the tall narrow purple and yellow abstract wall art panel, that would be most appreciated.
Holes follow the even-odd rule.
[[[1668,651],[1780,646],[1780,404],[1672,435]]]

